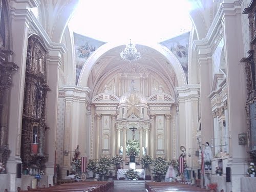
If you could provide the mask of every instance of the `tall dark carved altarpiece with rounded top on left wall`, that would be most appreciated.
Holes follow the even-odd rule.
[[[47,92],[50,91],[47,85],[47,54],[44,42],[37,35],[31,35],[28,39],[22,121],[21,150],[25,170],[31,168],[43,170],[47,161],[46,98]]]

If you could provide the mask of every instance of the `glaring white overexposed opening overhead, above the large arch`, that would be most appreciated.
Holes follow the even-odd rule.
[[[191,30],[185,0],[80,0],[69,27],[104,42],[161,42]]]

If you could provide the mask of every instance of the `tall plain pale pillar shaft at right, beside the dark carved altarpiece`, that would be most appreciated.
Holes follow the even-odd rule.
[[[245,162],[247,152],[244,145],[238,144],[238,134],[247,131],[246,112],[245,110],[241,111],[246,103],[246,75],[244,66],[240,63],[244,56],[241,8],[237,7],[233,11],[226,10],[222,17],[222,25],[227,65],[228,120],[229,127],[232,127],[230,129],[230,137],[232,138],[230,154],[233,159]]]

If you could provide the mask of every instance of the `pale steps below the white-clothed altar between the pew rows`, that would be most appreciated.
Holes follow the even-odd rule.
[[[127,181],[127,180],[115,180],[114,181],[115,192],[145,192],[145,181]]]

